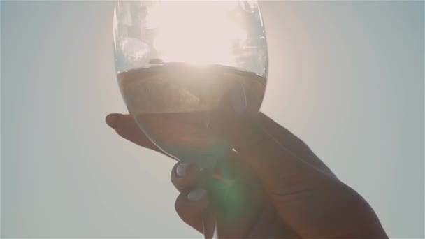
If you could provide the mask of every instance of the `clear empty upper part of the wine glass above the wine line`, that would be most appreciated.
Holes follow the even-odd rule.
[[[260,23],[257,1],[118,1],[117,72],[181,62],[264,75],[267,48]]]

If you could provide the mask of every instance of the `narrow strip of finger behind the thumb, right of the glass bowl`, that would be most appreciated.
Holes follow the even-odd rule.
[[[331,169],[329,169],[328,166],[326,166],[326,164],[324,164],[323,161],[320,160],[319,157],[317,157],[301,139],[294,136],[294,134],[289,130],[274,122],[273,119],[267,117],[264,113],[259,113],[258,120],[264,131],[266,131],[271,137],[275,138],[282,147],[286,147],[287,150],[311,166],[336,177]]]

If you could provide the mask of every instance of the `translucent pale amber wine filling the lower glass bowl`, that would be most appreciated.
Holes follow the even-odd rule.
[[[181,161],[215,164],[231,150],[211,115],[223,104],[256,114],[266,78],[238,68],[182,63],[154,64],[118,74],[122,96],[138,126],[152,142]],[[225,97],[229,95],[228,97]]]

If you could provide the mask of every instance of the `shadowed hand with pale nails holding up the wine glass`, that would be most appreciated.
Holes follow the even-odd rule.
[[[161,152],[129,115],[111,114],[106,122],[123,138]],[[220,238],[387,238],[370,205],[287,129],[262,113],[231,122],[238,124],[224,133],[238,153],[229,162],[249,177],[243,216],[218,222]],[[193,164],[178,163],[171,172],[180,191],[175,209],[201,233],[210,199],[202,179]]]

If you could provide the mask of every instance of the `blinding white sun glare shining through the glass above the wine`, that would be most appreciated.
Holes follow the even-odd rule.
[[[246,31],[231,10],[238,1],[173,2],[147,10],[147,27],[158,29],[153,46],[165,62],[235,65],[232,51],[243,45]]]

